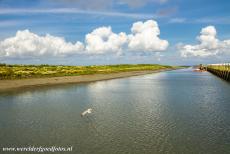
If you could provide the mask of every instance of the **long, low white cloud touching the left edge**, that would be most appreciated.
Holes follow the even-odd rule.
[[[66,42],[47,34],[39,36],[29,30],[18,31],[14,37],[0,42],[1,57],[65,56],[83,51],[81,42]]]

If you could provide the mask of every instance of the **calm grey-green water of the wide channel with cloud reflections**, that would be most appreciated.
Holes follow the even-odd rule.
[[[81,117],[87,108],[93,113]],[[227,154],[230,84],[181,69],[1,93],[0,148],[27,146],[72,146],[77,154]]]

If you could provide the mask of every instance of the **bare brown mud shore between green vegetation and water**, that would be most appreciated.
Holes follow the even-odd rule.
[[[18,89],[23,89],[23,88],[41,87],[41,86],[95,82],[95,81],[158,73],[158,72],[170,71],[170,70],[175,70],[175,68],[160,69],[160,70],[118,72],[118,73],[109,73],[109,74],[80,75],[80,76],[62,76],[62,77],[47,77],[47,78],[0,80],[0,92],[18,90]]]

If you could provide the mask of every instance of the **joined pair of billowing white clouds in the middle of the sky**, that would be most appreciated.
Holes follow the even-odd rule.
[[[169,43],[159,35],[160,29],[154,20],[134,23],[131,34],[115,34],[111,27],[100,27],[86,35],[86,51],[93,54],[164,51]]]

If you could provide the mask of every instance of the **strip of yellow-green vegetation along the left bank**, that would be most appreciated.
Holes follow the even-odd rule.
[[[174,68],[157,64],[121,64],[121,65],[7,65],[0,64],[0,79],[40,78],[55,76],[77,76],[86,74],[107,74],[127,71],[159,70]]]

